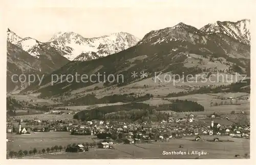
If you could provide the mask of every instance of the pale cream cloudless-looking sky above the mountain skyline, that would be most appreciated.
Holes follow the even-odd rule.
[[[251,19],[252,15],[250,1],[57,2],[60,3],[50,4],[52,6],[33,1],[9,3],[5,10],[5,23],[20,37],[32,37],[39,41],[48,41],[57,32],[75,32],[87,38],[127,32],[141,39],[152,30],[179,22],[199,29],[217,20],[237,21]]]

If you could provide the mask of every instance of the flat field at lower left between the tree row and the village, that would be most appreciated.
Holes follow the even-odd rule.
[[[34,132],[25,135],[7,133],[7,139],[14,141],[7,142],[7,151],[17,152],[18,150],[33,150],[33,148],[41,150],[55,145],[65,147],[73,143],[92,143],[92,137],[96,136],[70,135],[70,132]]]

